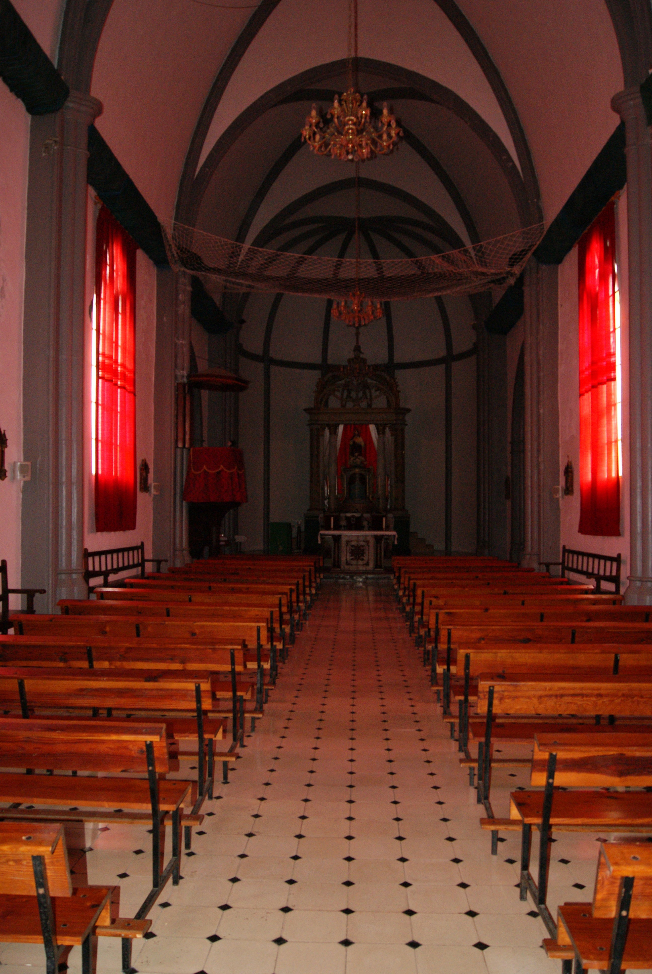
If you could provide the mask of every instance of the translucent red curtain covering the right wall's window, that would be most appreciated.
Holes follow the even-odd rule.
[[[578,246],[580,296],[580,534],[620,535],[614,204]]]

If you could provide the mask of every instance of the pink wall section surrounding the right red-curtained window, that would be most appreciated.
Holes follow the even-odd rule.
[[[621,537],[581,535],[580,523],[580,413],[579,323],[577,247],[559,267],[559,469],[570,459],[575,471],[575,492],[561,497],[561,543],[566,547],[623,556],[622,577],[630,560],[630,370],[627,265],[627,196],[617,204],[617,254],[621,294],[621,356],[623,362],[623,477],[621,479]],[[563,480],[562,480],[563,487]]]

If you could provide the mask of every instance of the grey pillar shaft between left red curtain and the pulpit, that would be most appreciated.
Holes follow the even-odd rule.
[[[190,367],[190,276],[178,273],[174,280],[174,387],[185,382]],[[174,565],[190,561],[188,550],[188,505],[183,500],[183,484],[190,451],[187,443],[177,442],[174,451]]]

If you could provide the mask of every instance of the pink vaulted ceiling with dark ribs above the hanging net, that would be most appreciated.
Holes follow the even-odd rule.
[[[15,3],[71,87],[101,100],[96,127],[159,217],[350,245],[353,168],[298,138],[312,103],[346,88],[348,0]],[[644,0],[359,4],[361,90],[405,132],[362,167],[371,256],[550,222],[616,128],[612,95],[650,67]]]

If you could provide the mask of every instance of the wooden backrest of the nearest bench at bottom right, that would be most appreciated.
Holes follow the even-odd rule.
[[[650,843],[600,843],[592,914],[614,918],[618,910],[621,880],[633,876],[630,918],[652,918],[652,845]]]

